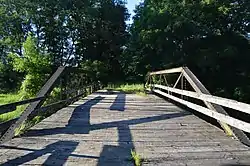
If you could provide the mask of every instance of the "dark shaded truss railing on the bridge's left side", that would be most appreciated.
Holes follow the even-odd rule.
[[[55,87],[60,88],[60,99],[46,104]],[[101,87],[100,83],[87,85],[85,73],[76,68],[59,67],[37,93],[36,98],[0,105],[0,115],[16,110],[17,106],[29,104],[22,114],[14,119],[0,122],[0,144],[15,136],[15,130],[37,115],[53,113],[88,93]]]

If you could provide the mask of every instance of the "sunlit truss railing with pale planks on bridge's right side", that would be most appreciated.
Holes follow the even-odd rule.
[[[165,96],[190,109],[216,119],[227,135],[235,136],[244,144],[250,145],[250,140],[245,133],[250,133],[250,123],[229,116],[223,108],[227,107],[250,114],[250,105],[211,95],[187,67],[151,72],[147,75],[145,86],[148,91]],[[188,86],[190,88],[187,88]],[[190,102],[190,98],[202,101],[206,107]]]

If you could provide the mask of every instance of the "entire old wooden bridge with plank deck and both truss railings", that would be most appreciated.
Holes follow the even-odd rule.
[[[98,82],[86,86],[83,73],[58,68],[36,98],[0,106],[4,114],[29,104],[0,124],[0,164],[250,164],[250,124],[244,118],[250,105],[211,95],[187,67],[146,78],[148,94],[140,96],[105,90]],[[46,104],[58,86],[60,101]],[[38,116],[43,120],[17,135]]]

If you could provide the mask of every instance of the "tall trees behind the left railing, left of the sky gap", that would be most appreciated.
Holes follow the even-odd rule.
[[[6,61],[11,52],[15,72],[32,75],[27,80],[37,78],[33,73],[47,72],[43,70],[49,69],[47,53],[53,67],[99,61],[110,78],[122,79],[119,60],[128,37],[125,21],[129,16],[124,0],[0,2],[0,59]]]

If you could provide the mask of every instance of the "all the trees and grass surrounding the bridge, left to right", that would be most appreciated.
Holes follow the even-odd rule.
[[[106,85],[188,66],[212,94],[250,101],[249,0],[144,0],[130,26],[124,0],[0,4],[0,93],[9,94],[0,104],[34,97],[58,66],[78,67],[86,84]],[[142,84],[109,88],[144,94]],[[60,89],[51,96],[46,104]]]

